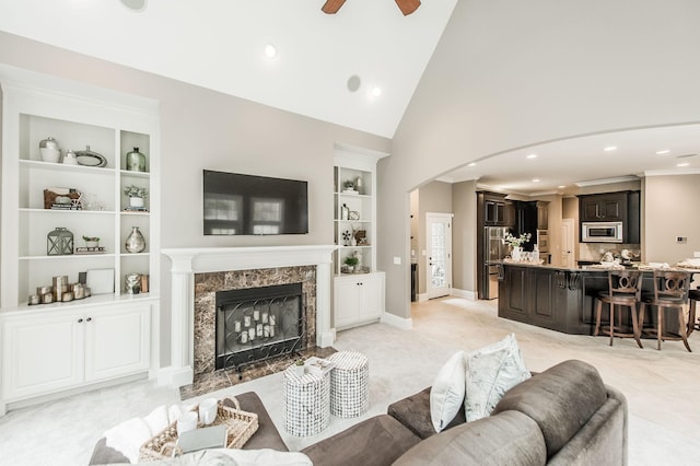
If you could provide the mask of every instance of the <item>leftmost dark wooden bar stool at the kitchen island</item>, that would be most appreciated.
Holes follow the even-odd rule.
[[[600,314],[603,312],[603,303],[610,306],[610,328],[603,328],[603,333],[610,336],[610,346],[612,346],[614,337],[634,338],[640,348],[640,327],[637,323],[637,303],[640,302],[642,293],[642,272],[639,270],[610,270],[608,271],[608,291],[602,291],[596,298],[595,310],[595,330],[593,336],[597,336],[600,331]],[[617,326],[615,325],[615,310],[619,306],[617,314]],[[623,331],[622,327],[622,306],[630,308],[632,318],[632,333]]]

